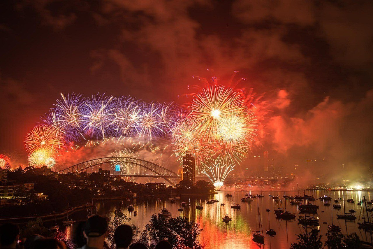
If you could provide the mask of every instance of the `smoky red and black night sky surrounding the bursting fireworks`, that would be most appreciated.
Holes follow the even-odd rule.
[[[0,153],[60,93],[185,102],[234,71],[266,109],[253,153],[372,165],[372,1],[0,2]]]

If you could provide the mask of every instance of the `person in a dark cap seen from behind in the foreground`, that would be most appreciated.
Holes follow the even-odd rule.
[[[107,220],[100,215],[90,217],[84,225],[84,237],[87,244],[80,249],[102,249],[107,233]]]

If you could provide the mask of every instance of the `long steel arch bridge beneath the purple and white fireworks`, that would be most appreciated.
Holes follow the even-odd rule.
[[[172,186],[175,186],[179,182],[180,176],[173,172],[172,170],[166,169],[158,164],[153,162],[145,161],[139,158],[130,158],[130,157],[120,157],[120,156],[111,156],[104,158],[97,158],[79,164],[70,166],[69,168],[59,171],[59,174],[67,173],[79,173],[79,172],[97,172],[98,168],[103,168],[103,165],[106,165],[106,168],[111,169],[115,165],[126,164],[131,166],[137,166],[134,168],[133,172],[129,171],[126,174],[115,174],[128,177],[153,177],[153,178],[163,178],[168,181]],[[112,171],[113,169],[111,169]],[[116,171],[114,171],[116,172]]]

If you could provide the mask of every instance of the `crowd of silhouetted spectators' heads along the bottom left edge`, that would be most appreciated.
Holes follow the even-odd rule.
[[[108,220],[100,215],[94,215],[87,221],[79,222],[76,225],[75,245],[78,249],[109,249],[106,243],[108,233]],[[119,225],[114,233],[114,242],[117,249],[146,249],[143,243],[132,243],[133,231],[129,225]],[[63,241],[46,238],[34,234],[27,238],[20,238],[18,225],[4,223],[0,226],[0,248],[20,249],[66,249]],[[171,249],[172,246],[167,240],[157,243],[156,249]],[[187,249],[187,248],[186,248]]]

